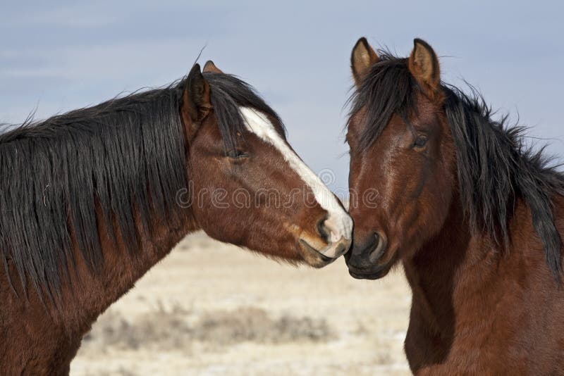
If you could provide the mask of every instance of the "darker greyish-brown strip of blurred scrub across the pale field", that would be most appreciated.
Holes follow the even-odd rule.
[[[137,350],[190,351],[193,341],[220,348],[240,342],[282,344],[293,341],[328,341],[336,335],[326,320],[283,315],[271,316],[262,308],[241,307],[234,311],[204,313],[190,322],[190,311],[174,306],[144,313],[131,320],[111,311],[94,325],[82,341],[82,351]]]

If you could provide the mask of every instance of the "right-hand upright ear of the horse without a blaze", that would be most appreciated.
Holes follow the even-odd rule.
[[[413,51],[409,58],[410,73],[419,82],[422,89],[431,97],[439,92],[441,71],[439,58],[427,42],[422,39],[413,40]]]

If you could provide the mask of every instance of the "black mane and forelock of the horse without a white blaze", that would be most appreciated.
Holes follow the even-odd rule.
[[[350,115],[366,111],[360,149],[381,134],[391,116],[404,119],[417,111],[422,89],[407,68],[407,59],[379,51],[374,64],[349,101]],[[524,199],[544,246],[549,268],[560,279],[562,240],[553,216],[553,194],[564,194],[564,175],[550,164],[544,150],[535,151],[524,139],[525,127],[508,125],[507,116],[492,119],[483,97],[441,84],[444,110],[455,144],[458,183],[467,219],[474,231],[508,244],[508,223],[516,199]]]

